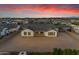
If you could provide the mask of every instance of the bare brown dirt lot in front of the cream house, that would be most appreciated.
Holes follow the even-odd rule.
[[[57,38],[21,37],[17,34],[0,44],[0,51],[52,51],[53,48],[79,49],[79,40],[67,33],[59,33]]]

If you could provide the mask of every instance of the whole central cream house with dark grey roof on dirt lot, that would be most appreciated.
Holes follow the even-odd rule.
[[[22,37],[57,37],[57,28],[49,23],[30,23],[24,24],[21,31]]]

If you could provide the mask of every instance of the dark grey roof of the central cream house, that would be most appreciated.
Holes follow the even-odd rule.
[[[55,29],[56,27],[51,23],[29,23],[24,24],[23,28],[31,29],[35,32],[43,32]]]

